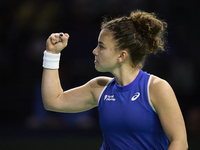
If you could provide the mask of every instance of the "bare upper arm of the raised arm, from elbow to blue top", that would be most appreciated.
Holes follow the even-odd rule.
[[[98,106],[99,95],[110,79],[97,77],[82,86],[61,93],[51,104],[50,110],[76,113]]]

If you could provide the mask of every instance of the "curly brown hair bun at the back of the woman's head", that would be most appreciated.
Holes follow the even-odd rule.
[[[148,51],[156,53],[158,48],[163,49],[163,30],[166,23],[158,20],[154,13],[137,10],[130,14],[136,31],[148,42]]]

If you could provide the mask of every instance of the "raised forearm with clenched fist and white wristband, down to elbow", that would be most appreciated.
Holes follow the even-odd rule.
[[[43,57],[42,99],[47,110],[57,110],[63,93],[58,73],[61,51],[67,46],[68,34],[51,34],[46,42]]]

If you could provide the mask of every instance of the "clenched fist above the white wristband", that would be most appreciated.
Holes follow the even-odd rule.
[[[46,51],[53,54],[60,53],[68,43],[69,34],[52,33],[46,42]]]

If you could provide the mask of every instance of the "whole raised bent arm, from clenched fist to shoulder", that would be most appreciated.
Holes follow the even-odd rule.
[[[52,34],[47,40],[46,52],[58,55],[67,46],[68,38],[68,34]],[[45,59],[52,61],[52,58]],[[51,62],[50,65],[43,64],[43,66],[42,98],[45,109],[50,111],[75,113],[97,106],[98,97],[109,80],[106,77],[99,77],[83,86],[63,91],[58,68],[55,67],[54,62],[53,67],[51,67]]]

